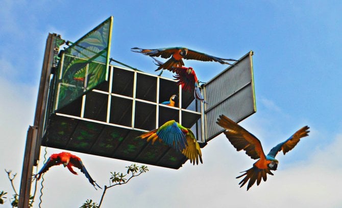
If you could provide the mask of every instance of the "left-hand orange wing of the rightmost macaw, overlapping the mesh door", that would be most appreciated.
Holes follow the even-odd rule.
[[[237,151],[243,149],[252,159],[265,159],[261,143],[253,134],[230,120],[225,115],[220,115],[216,123],[227,130],[224,133]]]

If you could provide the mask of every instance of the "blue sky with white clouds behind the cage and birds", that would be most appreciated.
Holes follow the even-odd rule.
[[[112,15],[111,57],[151,74],[151,59],[130,48],[182,46],[235,59],[253,50],[257,112],[240,125],[261,140],[265,152],[304,125],[311,132],[286,156],[277,156],[274,176],[248,192],[239,188],[235,177],[254,161],[219,135],[202,149],[204,164],[186,163],[179,170],[149,166],[145,175],[108,190],[103,207],[340,207],[341,10],[340,1],[2,1],[0,170],[17,172],[19,188],[47,34],[76,41]],[[196,69],[201,81],[225,68],[199,61],[186,65]],[[131,164],[75,154],[103,185],[110,171],[125,171]],[[11,192],[6,173],[0,175],[0,190]],[[101,196],[83,174],[74,176],[62,167],[49,170],[44,187],[44,207],[78,207],[87,198],[98,202]],[[38,202],[37,197],[35,207]]]

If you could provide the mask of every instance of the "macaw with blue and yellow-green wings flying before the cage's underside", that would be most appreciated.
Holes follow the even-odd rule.
[[[168,121],[158,129],[143,133],[139,137],[146,138],[147,142],[152,140],[152,144],[157,140],[164,142],[182,152],[193,165],[195,163],[198,165],[199,160],[203,164],[201,148],[194,134],[190,129],[183,127],[175,120]]]

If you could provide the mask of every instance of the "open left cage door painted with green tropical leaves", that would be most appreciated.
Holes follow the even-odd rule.
[[[61,53],[54,110],[108,80],[112,22],[109,17]]]

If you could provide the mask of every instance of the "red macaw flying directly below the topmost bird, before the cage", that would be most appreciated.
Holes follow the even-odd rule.
[[[154,57],[152,58],[156,61],[155,63],[156,65],[161,66],[164,64],[163,62],[155,59]],[[173,73],[176,73],[176,75],[174,75],[174,78],[175,80],[178,80],[177,85],[182,85],[182,89],[187,90],[190,93],[193,91],[193,96],[196,100],[200,100],[200,101],[203,101],[204,103],[207,103],[201,94],[199,80],[192,67],[172,66],[168,70]]]

